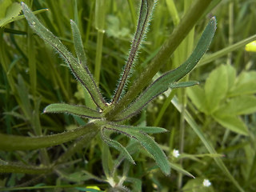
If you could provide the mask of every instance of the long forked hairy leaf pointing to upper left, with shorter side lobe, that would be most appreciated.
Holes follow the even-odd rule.
[[[106,102],[103,100],[102,95],[100,94],[98,87],[95,85],[95,82],[89,72],[89,70],[85,69],[86,63],[81,65],[82,58],[82,50],[79,51],[78,59],[74,58],[74,56],[66,49],[66,46],[63,46],[62,42],[54,36],[50,32],[50,30],[46,29],[45,26],[42,26],[42,23],[38,21],[38,18],[34,16],[31,10],[26,6],[25,3],[22,2],[22,10],[25,14],[26,20],[29,23],[30,27],[47,43],[50,44],[55,50],[57,50],[58,54],[62,56],[62,58],[68,63],[70,70],[74,74],[78,81],[82,83],[83,86],[86,87],[86,90],[90,93],[91,97],[94,99],[95,104],[101,109],[106,108]],[[74,22],[71,22],[72,29],[74,30],[74,45],[76,50],[81,48],[81,38],[80,34],[75,26]],[[80,39],[79,39],[80,38]],[[82,60],[85,62],[85,58]]]

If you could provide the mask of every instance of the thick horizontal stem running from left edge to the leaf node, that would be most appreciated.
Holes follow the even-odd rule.
[[[88,137],[94,138],[97,133],[98,126],[94,123],[89,123],[76,130],[34,138],[0,134],[0,150],[36,150],[49,146],[57,146],[82,135],[88,135]]]

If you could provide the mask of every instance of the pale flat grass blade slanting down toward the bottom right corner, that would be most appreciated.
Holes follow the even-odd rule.
[[[177,98],[173,98],[171,100],[171,102],[174,104],[174,106],[176,107],[176,109],[179,112],[182,111],[182,105],[180,105],[178,103]],[[190,115],[190,113],[187,110],[185,110],[184,118],[185,118],[186,122],[194,130],[194,133],[198,135],[198,138],[200,138],[200,140],[202,141],[204,146],[206,146],[206,149],[210,152],[210,154],[217,154],[217,151],[214,150],[214,146],[212,145],[210,140],[207,139],[206,136],[202,133],[202,129],[198,126],[198,124],[196,122],[194,122],[194,118],[192,118],[192,116]],[[222,170],[223,174],[225,174],[226,177],[230,179],[230,182],[232,182],[234,184],[234,186],[236,186],[240,192],[245,192],[245,190],[242,189],[242,187],[239,185],[239,183],[234,178],[234,176],[232,174],[230,174],[230,171],[227,169],[227,167],[225,166],[222,159],[214,158],[214,161],[216,162],[216,164],[218,165],[220,170]]]

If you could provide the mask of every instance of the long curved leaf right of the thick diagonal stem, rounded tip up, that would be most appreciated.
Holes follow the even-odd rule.
[[[123,120],[134,114],[138,113],[139,110],[142,110],[144,106],[152,99],[156,98],[159,94],[162,94],[169,87],[172,87],[175,82],[178,82],[179,79],[183,78],[186,74],[194,68],[198,63],[202,55],[206,53],[210,46],[210,42],[214,37],[216,30],[216,19],[211,18],[210,22],[206,26],[206,29],[203,31],[201,38],[198,41],[198,45],[194,49],[193,53],[190,55],[190,58],[186,60],[181,66],[178,66],[175,70],[171,70],[166,74],[163,74],[160,78],[154,81],[138,98],[135,102],[131,103],[126,110],[123,110],[122,113],[118,114],[116,119]]]

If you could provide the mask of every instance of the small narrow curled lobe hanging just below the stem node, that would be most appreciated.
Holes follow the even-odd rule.
[[[101,130],[101,136],[102,140],[106,142],[109,146],[114,147],[116,150],[118,150],[129,162],[132,164],[135,164],[134,159],[130,156],[129,152],[126,150],[124,146],[122,146],[119,142],[114,141],[113,139],[110,139],[104,134],[105,127]],[[106,128],[107,129],[107,128]]]

